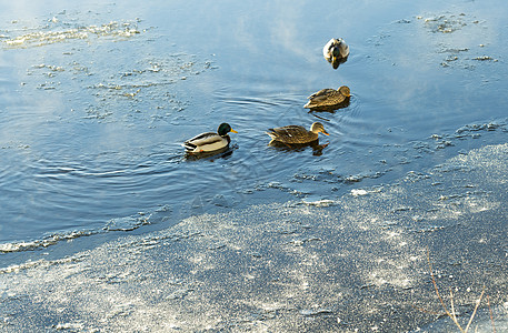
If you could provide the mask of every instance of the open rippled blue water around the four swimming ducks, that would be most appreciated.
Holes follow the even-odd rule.
[[[506,141],[499,3],[3,1],[0,243],[319,199]],[[351,50],[338,70],[331,37]],[[348,108],[302,108],[342,84]],[[267,145],[266,129],[316,120],[321,154]],[[186,159],[221,122],[231,151]]]

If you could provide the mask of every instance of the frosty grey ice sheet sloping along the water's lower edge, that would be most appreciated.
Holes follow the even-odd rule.
[[[442,312],[427,249],[460,313],[485,284],[506,325],[507,160],[508,144],[489,145],[333,204],[203,214],[2,269],[0,327],[411,331],[437,319],[416,309]]]

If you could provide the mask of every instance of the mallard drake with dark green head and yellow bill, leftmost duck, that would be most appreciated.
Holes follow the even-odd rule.
[[[225,122],[219,125],[217,133],[201,133],[183,142],[183,147],[188,153],[202,153],[221,150],[227,148],[229,142],[231,142],[231,138],[228,135],[229,132],[238,133]]]

